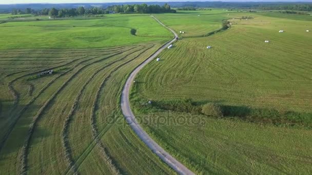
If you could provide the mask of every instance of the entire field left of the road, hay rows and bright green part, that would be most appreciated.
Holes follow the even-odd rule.
[[[150,16],[8,22],[0,32],[0,174],[173,173],[119,107],[127,76],[170,32]]]

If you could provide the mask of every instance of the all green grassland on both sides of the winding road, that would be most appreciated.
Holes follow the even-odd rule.
[[[310,174],[310,16],[154,16],[181,39],[132,86],[131,107],[146,132],[197,174]],[[150,14],[8,17],[0,15],[0,174],[175,173],[120,109],[127,77],[171,32]],[[225,19],[228,30],[203,37]],[[223,116],[203,114],[206,103]]]

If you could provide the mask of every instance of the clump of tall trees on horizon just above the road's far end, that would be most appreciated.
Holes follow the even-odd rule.
[[[159,5],[147,5],[147,4],[135,4],[135,5],[114,5],[106,8],[110,12],[114,13],[176,13],[166,3],[163,6]]]

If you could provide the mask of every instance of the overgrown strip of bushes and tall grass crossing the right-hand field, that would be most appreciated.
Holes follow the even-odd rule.
[[[160,100],[147,104],[148,100],[136,99],[136,105],[139,106],[141,112],[150,113],[164,110],[251,123],[312,128],[312,113],[288,111],[287,108],[252,108],[250,106],[222,105],[213,102],[196,102],[192,99]]]

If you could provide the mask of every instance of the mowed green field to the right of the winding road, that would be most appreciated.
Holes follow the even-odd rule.
[[[136,77],[130,96],[136,116],[161,146],[197,173],[312,172],[312,33],[306,32],[312,23],[306,15],[295,20],[293,15],[260,14],[220,14],[219,21],[230,19],[230,29],[178,40],[159,55],[161,61],[149,63]],[[159,18],[175,31],[183,31],[188,27],[185,18],[203,17],[191,21],[199,25],[206,21],[209,26],[208,16],[207,21],[204,15]],[[242,16],[255,18],[232,19]],[[170,26],[173,18],[175,24]],[[196,28],[192,31],[196,36]],[[272,113],[261,113],[266,120],[247,122],[235,116],[214,118],[146,105],[149,100],[155,104],[176,100],[177,108],[183,108],[179,100],[188,98],[196,104],[277,111],[282,123],[267,122],[275,117]],[[305,118],[293,115],[288,119],[299,124],[284,126],[287,111]]]

